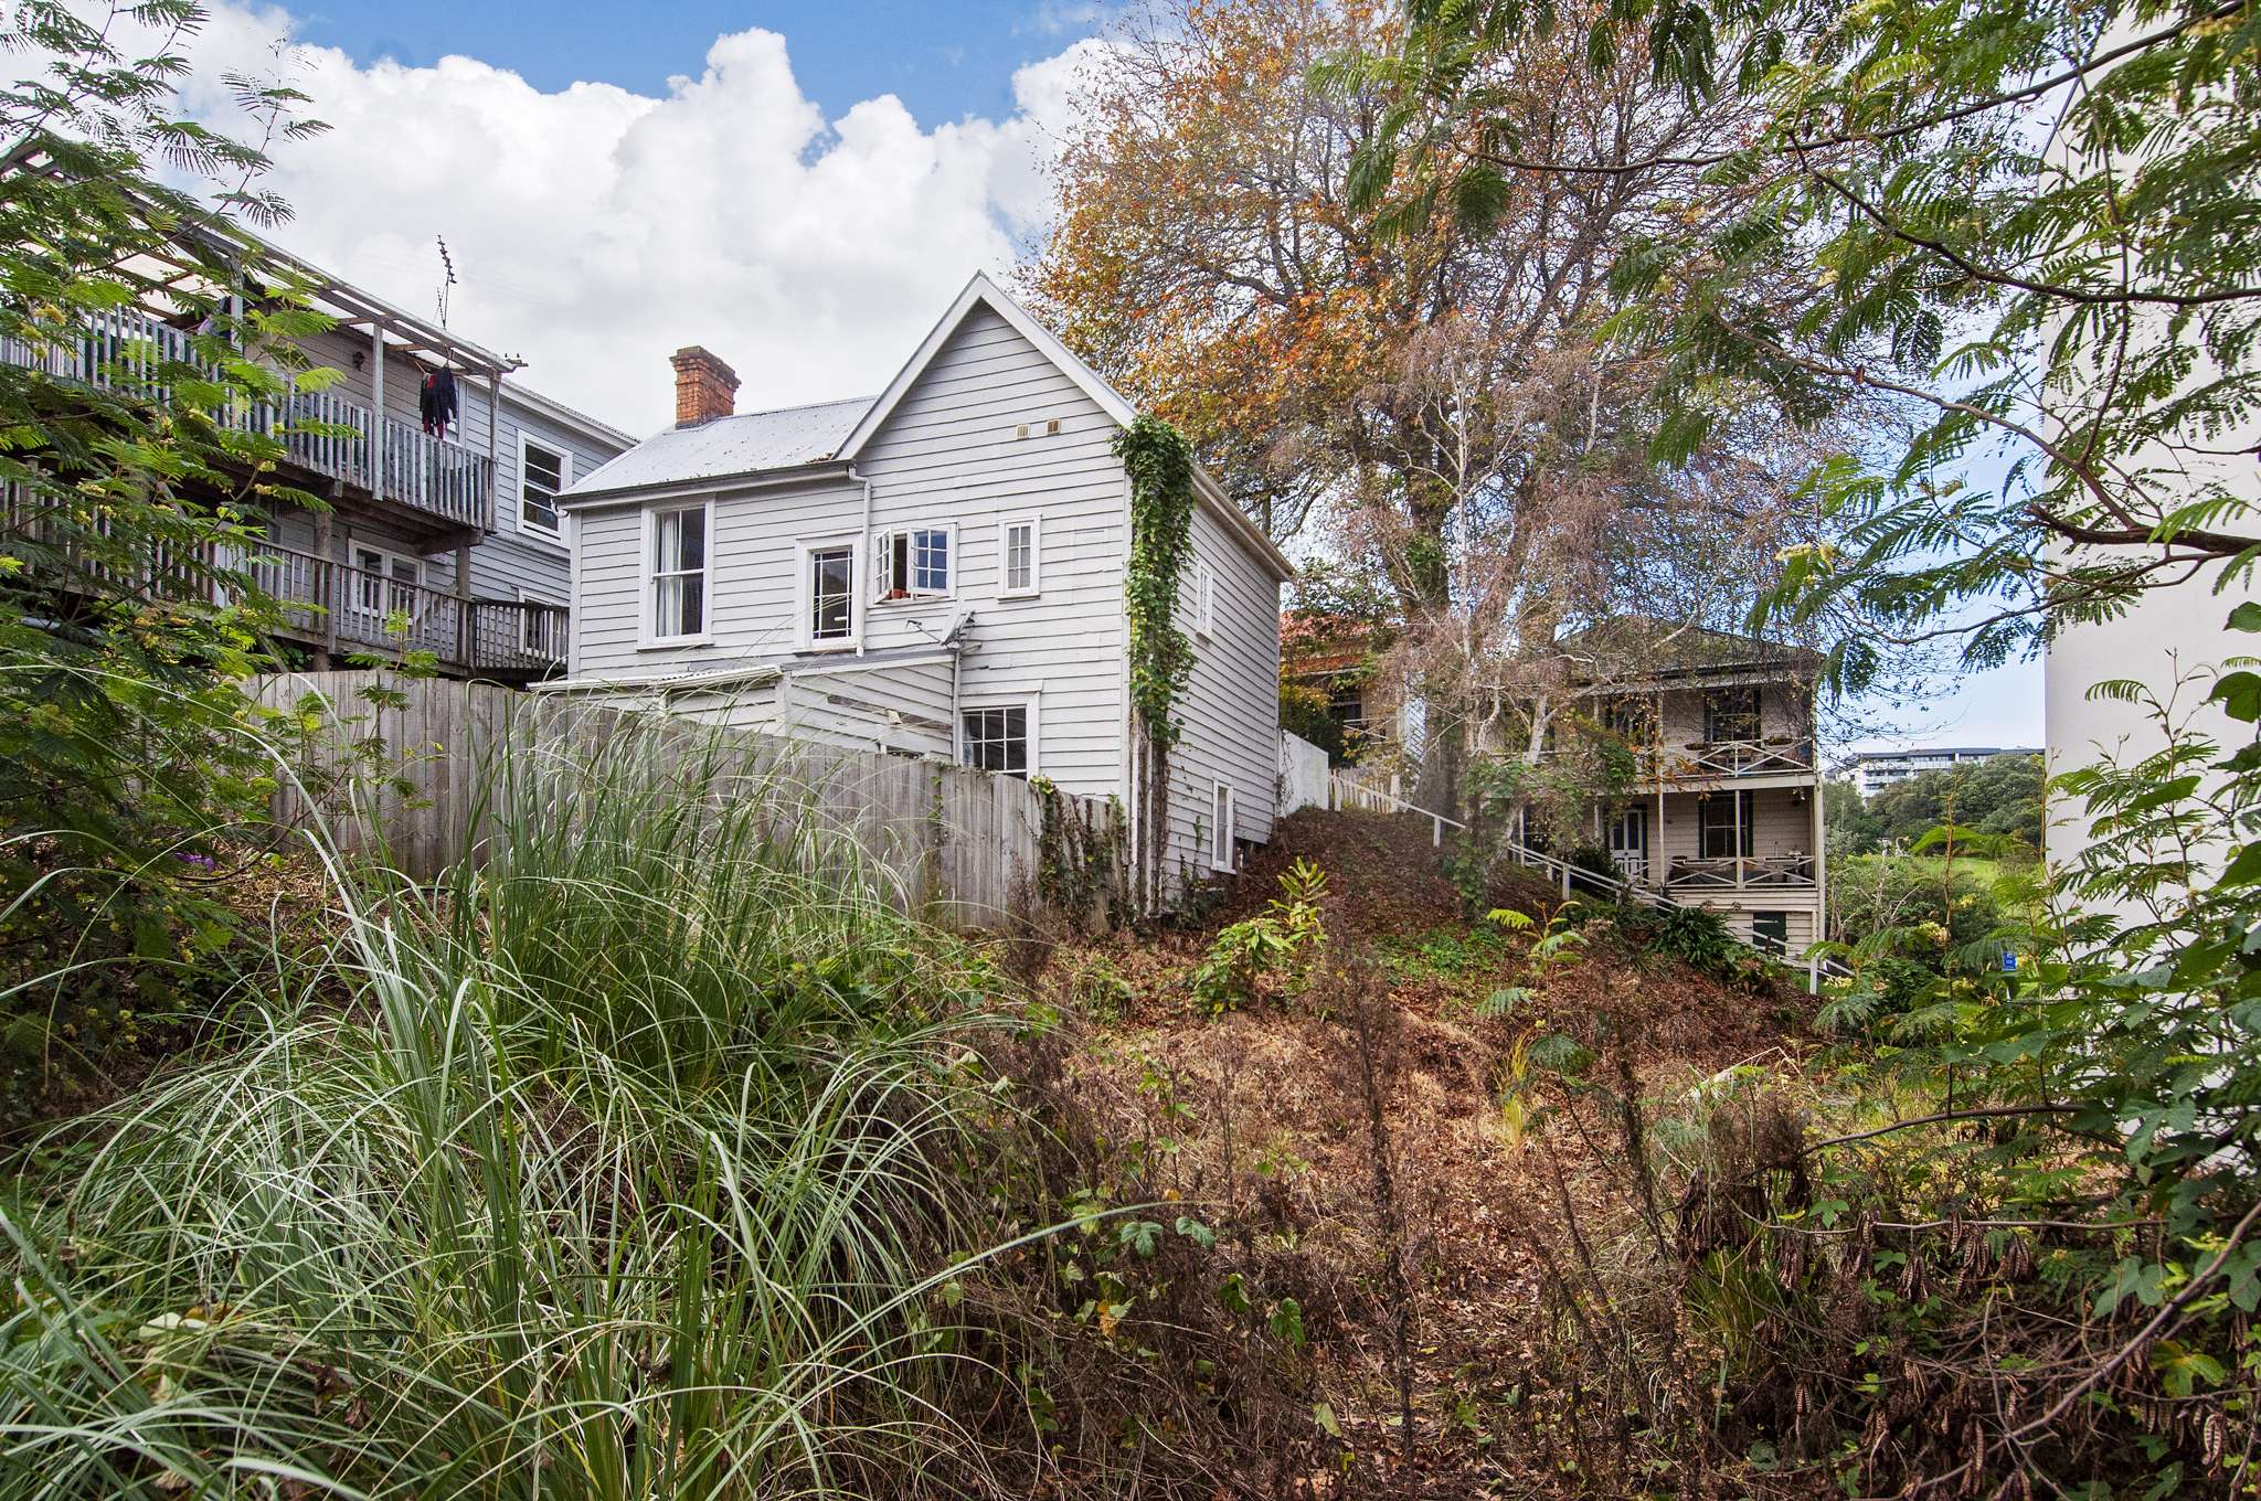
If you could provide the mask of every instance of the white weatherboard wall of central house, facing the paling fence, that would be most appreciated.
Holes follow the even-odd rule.
[[[1029,436],[1020,436],[1022,427]],[[1112,418],[1004,319],[977,310],[857,459],[870,484],[875,536],[956,522],[947,599],[873,601],[870,558],[861,558],[864,649],[938,644],[970,617],[961,701],[1040,701],[1038,764],[1085,796],[1121,791],[1126,502],[1115,432]],[[1042,588],[999,599],[997,524],[1031,513],[1042,518]],[[861,529],[864,486],[850,479],[739,493],[721,486],[708,565],[714,640],[640,649],[642,511],[583,511],[577,676],[787,665],[800,651],[800,543],[857,540]],[[855,653],[841,653],[841,665],[850,662]],[[870,696],[895,683],[918,701],[922,685],[898,674],[841,671],[837,685],[866,678],[868,687],[834,694]],[[805,696],[807,676],[796,667],[787,701],[800,705]],[[932,717],[932,703],[911,717]],[[941,719],[950,719],[947,696]],[[954,732],[936,753],[954,755]]]

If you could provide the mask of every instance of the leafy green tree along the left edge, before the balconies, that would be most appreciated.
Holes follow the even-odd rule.
[[[326,321],[237,222],[283,217],[267,149],[319,127],[251,77],[224,79],[242,136],[188,120],[201,23],[185,0],[0,23],[38,59],[0,86],[0,1112],[59,1049],[161,1010],[167,963],[194,977],[206,893],[249,857],[224,832],[269,787],[240,687],[274,622],[249,520],[319,504],[276,481],[276,398],[321,384],[294,339]]]

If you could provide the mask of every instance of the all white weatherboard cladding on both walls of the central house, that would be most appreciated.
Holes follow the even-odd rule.
[[[647,608],[642,513],[703,500],[656,470],[667,497],[579,511],[581,572],[574,676],[620,683],[778,667],[778,689],[678,694],[674,712],[769,723],[832,744],[956,755],[947,662],[839,667],[803,653],[800,547],[861,543],[866,484],[870,536],[954,527],[947,599],[873,599],[873,561],[859,552],[861,647],[900,653],[959,631],[959,708],[1029,703],[1036,764],[1063,791],[1126,791],[1128,479],[1115,457],[1115,416],[1029,337],[988,305],[972,305],[918,378],[855,452],[855,477],[719,479],[708,572],[712,640],[642,647]],[[615,472],[629,472],[620,468]],[[642,470],[638,470],[642,472]],[[764,488],[766,486],[766,488]],[[999,597],[1002,522],[1038,518],[1040,588]],[[1280,590],[1271,567],[1207,509],[1194,549],[1214,574],[1214,615],[1180,701],[1164,875],[1205,870],[1205,830],[1219,778],[1232,784],[1239,839],[1271,836],[1277,784]],[[1183,624],[1192,628],[1194,570]],[[936,721],[947,735],[932,735]],[[927,737],[925,741],[920,737]]]

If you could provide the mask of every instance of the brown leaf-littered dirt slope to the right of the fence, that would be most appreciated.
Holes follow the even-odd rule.
[[[1216,929],[1277,895],[1296,859],[1327,873],[1323,972],[1268,981],[1253,1004],[1210,1015],[1189,997],[1192,968]],[[1630,1069],[1641,1092],[1680,1090],[1795,1047],[1804,997],[1730,990],[1628,952],[1605,925],[1535,974],[1553,893],[1510,879],[1485,904],[1535,925],[1467,922],[1415,818],[1298,814],[1198,931],[1069,949],[1051,970],[1072,1017],[1063,1087],[1103,1135],[1137,1148],[1124,1194],[1198,1205],[1268,1291],[1298,1293],[1307,1345],[1280,1395],[1293,1406],[1275,1417],[1296,1442],[1268,1442],[1275,1460],[1293,1460],[1216,1494],[1610,1494],[1578,1456],[1551,1449],[1533,1354],[1560,1316],[1542,1307],[1542,1284],[1567,1207],[1589,1230],[1635,1234],[1632,1185],[1589,1112],[1524,1123],[1567,1103],[1528,1049],[1576,1040]],[[1488,1004],[1510,988],[1524,995]],[[1397,1415],[1402,1316],[1411,1440]],[[1673,1476],[1653,1487],[1700,1490]]]

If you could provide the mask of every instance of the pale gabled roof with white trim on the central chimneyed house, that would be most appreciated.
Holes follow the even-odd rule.
[[[744,416],[701,423],[699,427],[669,427],[644,439],[610,463],[590,470],[558,495],[558,504],[572,506],[574,502],[620,497],[631,491],[662,486],[757,479],[776,470],[814,468],[821,463],[850,466],[864,452],[864,445],[886,425],[895,407],[902,405],[911,387],[918,384],[927,366],[934,364],[934,357],[943,353],[943,346],[950,344],[959,326],[979,307],[1004,319],[1013,332],[1067,375],[1117,425],[1128,427],[1137,420],[1137,407],[1124,400],[1121,391],[1101,380],[1092,366],[1083,364],[1072,348],[1060,344],[1008,292],[981,271],[974,271],[965,289],[950,303],[941,321],[927,330],[918,350],[895,371],[895,380],[880,396],[814,407],[782,407],[778,411],[748,411]],[[1296,565],[1264,536],[1262,527],[1232,504],[1207,470],[1194,470],[1194,491],[1225,531],[1239,538],[1275,579],[1287,581],[1296,576]]]

